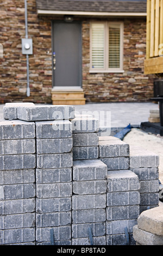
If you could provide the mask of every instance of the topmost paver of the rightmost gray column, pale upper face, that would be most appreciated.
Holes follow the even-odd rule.
[[[145,149],[130,147],[130,168],[159,166],[159,156]]]

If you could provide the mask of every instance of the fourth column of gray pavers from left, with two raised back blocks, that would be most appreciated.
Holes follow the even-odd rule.
[[[106,245],[133,241],[139,217],[139,179],[129,170],[129,145],[115,137],[99,138],[99,159],[108,167],[106,194]]]

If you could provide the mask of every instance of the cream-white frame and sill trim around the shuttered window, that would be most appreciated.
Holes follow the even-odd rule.
[[[92,68],[92,42],[91,42],[91,38],[92,38],[92,29],[91,29],[91,25],[93,23],[103,23],[105,25],[105,56],[108,56],[105,58],[105,68],[104,69],[97,69],[97,68]],[[108,66],[108,60],[109,60],[109,35],[108,35],[108,25],[118,25],[120,26],[120,68],[112,68],[112,69],[106,69],[106,67]],[[93,21],[90,22],[90,73],[123,73],[123,22],[110,22],[110,21]]]

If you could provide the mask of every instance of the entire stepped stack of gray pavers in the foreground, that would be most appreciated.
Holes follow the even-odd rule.
[[[1,244],[135,244],[140,212],[158,205],[158,156],[98,137],[73,106],[10,103],[4,119]]]

